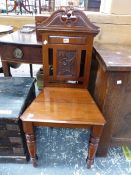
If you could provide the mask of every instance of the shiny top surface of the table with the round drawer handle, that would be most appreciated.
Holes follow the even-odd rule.
[[[20,30],[2,36],[0,38],[0,44],[34,45],[42,47],[42,43],[37,41],[36,32],[22,33]]]

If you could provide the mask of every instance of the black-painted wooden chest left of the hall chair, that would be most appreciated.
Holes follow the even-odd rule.
[[[34,98],[34,79],[0,77],[0,162],[29,159],[19,117]]]

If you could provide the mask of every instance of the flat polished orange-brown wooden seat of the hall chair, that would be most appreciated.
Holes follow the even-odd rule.
[[[52,127],[55,124],[86,127],[105,123],[103,115],[86,89],[56,87],[44,88],[21,119]]]

